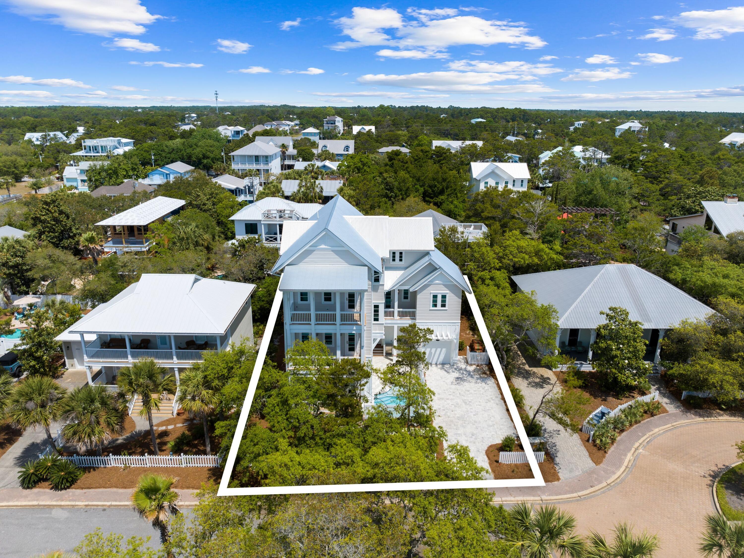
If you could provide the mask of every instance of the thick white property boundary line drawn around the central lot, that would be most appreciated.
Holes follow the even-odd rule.
[[[465,277],[468,286],[470,281]],[[472,289],[471,289],[472,290]],[[261,339],[261,345],[258,349],[258,355],[256,357],[256,364],[253,368],[253,375],[251,376],[251,382],[248,384],[248,391],[246,392],[246,400],[243,402],[243,409],[240,411],[240,417],[237,421],[237,428],[233,436],[232,445],[230,446],[230,452],[228,453],[228,459],[225,463],[225,472],[222,473],[222,480],[219,482],[219,489],[217,490],[217,496],[266,496],[269,494],[317,494],[317,493],[349,493],[349,492],[378,492],[381,490],[441,490],[441,489],[452,489],[452,488],[511,488],[511,487],[543,487],[545,481],[542,479],[540,468],[535,459],[535,455],[532,452],[532,446],[527,438],[527,432],[525,426],[522,425],[522,420],[519,418],[519,411],[517,411],[516,404],[514,403],[509,385],[507,383],[504,371],[501,370],[501,365],[496,357],[496,349],[493,347],[493,342],[490,336],[487,335],[487,328],[481,310],[478,307],[478,302],[475,301],[475,295],[466,293],[467,300],[470,304],[473,315],[475,316],[475,323],[478,324],[478,330],[481,333],[488,356],[491,359],[493,370],[496,371],[496,377],[498,378],[498,385],[501,388],[501,394],[504,395],[504,400],[507,403],[509,414],[511,415],[512,422],[516,427],[516,432],[519,434],[519,441],[522,442],[522,447],[527,453],[527,461],[530,464],[530,469],[534,478],[506,478],[506,479],[493,479],[483,481],[434,481],[434,482],[382,482],[382,483],[366,483],[366,484],[317,484],[309,486],[287,486],[287,487],[240,487],[240,488],[229,488],[230,478],[232,476],[233,468],[235,466],[235,458],[237,458],[237,451],[240,448],[240,441],[243,439],[243,432],[246,429],[246,423],[248,423],[248,416],[251,412],[251,405],[253,404],[253,397],[256,393],[256,387],[258,385],[258,377],[260,376],[261,369],[263,368],[263,362],[266,360],[266,352],[269,350],[269,342],[274,331],[274,327],[279,315],[279,308],[282,303],[282,293],[277,289],[277,293],[274,297],[274,303],[272,304],[272,311],[269,314],[269,321],[266,323],[266,332],[263,334]],[[516,420],[515,420],[516,417]],[[478,420],[478,417],[472,417],[473,420]]]

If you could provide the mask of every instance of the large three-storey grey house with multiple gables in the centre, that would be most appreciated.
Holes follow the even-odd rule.
[[[431,219],[365,217],[336,196],[307,221],[284,224],[280,257],[285,350],[318,339],[337,358],[369,361],[400,327],[430,327],[433,363],[457,358],[462,292],[458,266],[434,248]]]

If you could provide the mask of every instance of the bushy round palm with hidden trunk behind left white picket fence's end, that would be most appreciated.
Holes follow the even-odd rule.
[[[76,444],[80,452],[95,448],[97,455],[111,434],[124,430],[124,410],[103,385],[75,388],[62,401],[62,420],[67,422],[62,427],[65,440]]]

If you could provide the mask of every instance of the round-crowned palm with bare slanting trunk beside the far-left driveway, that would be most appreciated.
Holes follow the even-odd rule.
[[[52,421],[60,417],[66,395],[67,390],[49,376],[28,376],[16,384],[7,398],[7,416],[22,430],[41,426],[51,446],[57,449],[49,429]]]

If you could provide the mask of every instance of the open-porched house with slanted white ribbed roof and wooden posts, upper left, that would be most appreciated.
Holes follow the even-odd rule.
[[[152,244],[152,240],[145,238],[150,225],[161,223],[179,213],[185,204],[182,199],[158,196],[97,222],[97,226],[103,227],[106,237],[106,243],[103,244],[104,255],[147,251]]]

